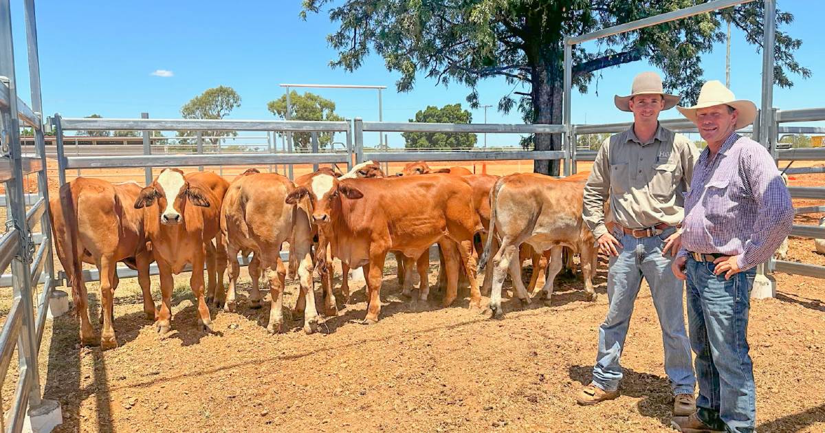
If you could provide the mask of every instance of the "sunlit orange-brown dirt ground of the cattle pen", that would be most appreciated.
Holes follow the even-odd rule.
[[[790,183],[823,186],[825,175]],[[819,216],[800,215],[797,224],[815,224]],[[809,239],[791,238],[790,257],[825,265]],[[432,284],[436,268],[431,261]],[[45,398],[61,403],[57,431],[66,432],[671,431],[661,331],[646,287],[623,355],[621,397],[596,407],[574,402],[591,379],[606,313],[605,271],[602,263],[595,303],[584,300],[581,280],[566,277],[557,280],[549,306],[535,300],[522,307],[506,297],[504,318],[491,320],[464,298],[450,308],[441,308],[437,296],[405,299],[389,261],[380,322],[357,322],[366,308],[361,288],[309,336],[299,317],[288,320],[286,332],[269,335],[269,304],[247,307],[248,279],[237,313],[213,309],[214,334],[198,332],[188,277],[180,275],[165,339],[144,318],[136,282],[122,280],[115,294],[120,346],[80,347],[77,320],[57,318],[40,350],[41,385]],[[776,298],[752,300],[750,313],[757,429],[825,431],[825,284],[775,277]],[[88,287],[95,317],[99,290]],[[157,303],[157,278],[153,293]],[[288,281],[285,307],[295,299],[296,283]],[[3,407],[15,382],[12,363]]]

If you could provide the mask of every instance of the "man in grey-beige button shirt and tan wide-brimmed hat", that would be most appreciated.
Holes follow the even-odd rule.
[[[610,268],[609,308],[599,329],[592,383],[577,397],[582,405],[619,396],[619,360],[644,278],[662,327],[665,372],[675,396],[673,414],[681,417],[695,410],[696,379],[682,313],[683,285],[673,275],[671,263],[680,246],[677,226],[684,216],[682,193],[691,185],[698,151],[685,136],[658,123],[659,112],[678,101],[679,96],[662,91],[657,73],[637,75],[629,96],[615,96],[621,111],[633,113],[634,124],[601,145],[584,188],[584,220],[597,239],[599,252],[610,257]],[[607,200],[612,230],[606,227]]]

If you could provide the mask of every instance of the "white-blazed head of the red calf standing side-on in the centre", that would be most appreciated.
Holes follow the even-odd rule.
[[[304,198],[309,200],[312,220],[315,224],[327,224],[333,208],[340,209],[341,197],[349,200],[360,199],[364,195],[357,188],[347,185],[335,176],[319,173],[314,176],[309,188],[299,186],[286,195],[286,203],[295,205]]]

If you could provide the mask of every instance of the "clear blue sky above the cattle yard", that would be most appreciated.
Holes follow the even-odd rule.
[[[825,5],[808,0],[780,0],[782,10],[793,12],[791,34],[804,40],[796,54],[813,78],[792,76],[795,86],[775,89],[775,106],[803,108],[822,106],[825,59],[818,47]],[[266,102],[283,94],[285,82],[375,84],[384,91],[384,120],[406,121],[427,105],[461,102],[469,90],[460,85],[436,87],[421,76],[413,92],[394,90],[397,73],[389,73],[377,55],[366,59],[354,73],[329,68],[336,53],[328,48],[326,35],[335,24],[328,15],[299,19],[299,0],[270,2],[210,1],[40,1],[37,2],[40,39],[40,73],[46,115],[68,117],[97,113],[104,117],[139,117],[148,111],[155,118],[179,117],[180,107],[207,88],[233,87],[243,98],[234,119],[272,119]],[[12,2],[15,24],[17,78],[20,95],[28,101],[22,2]],[[724,81],[724,45],[703,57],[706,79]],[[587,95],[574,93],[573,122],[629,121],[629,115],[613,106],[615,93],[629,92],[636,73],[651,67],[643,62],[601,71]],[[738,97],[759,105],[761,54],[734,29],[732,41],[732,90]],[[164,70],[169,77],[152,75]],[[512,91],[503,78],[479,86],[489,123],[521,123],[517,113],[495,110],[499,98]],[[337,113],[378,120],[375,91],[318,89],[337,103]],[[676,117],[674,111],[662,118]],[[483,110],[473,111],[474,123],[483,122]],[[403,139],[390,136],[391,145]],[[512,136],[488,136],[490,145],[514,144]],[[480,144],[480,140],[479,140]]]

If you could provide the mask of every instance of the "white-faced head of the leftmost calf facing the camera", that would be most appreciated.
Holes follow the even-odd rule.
[[[177,168],[164,168],[163,172],[151,185],[140,190],[134,209],[141,209],[158,202],[161,224],[175,225],[183,223],[183,211],[186,203],[208,208],[209,200],[205,191],[197,186],[190,186]]]

